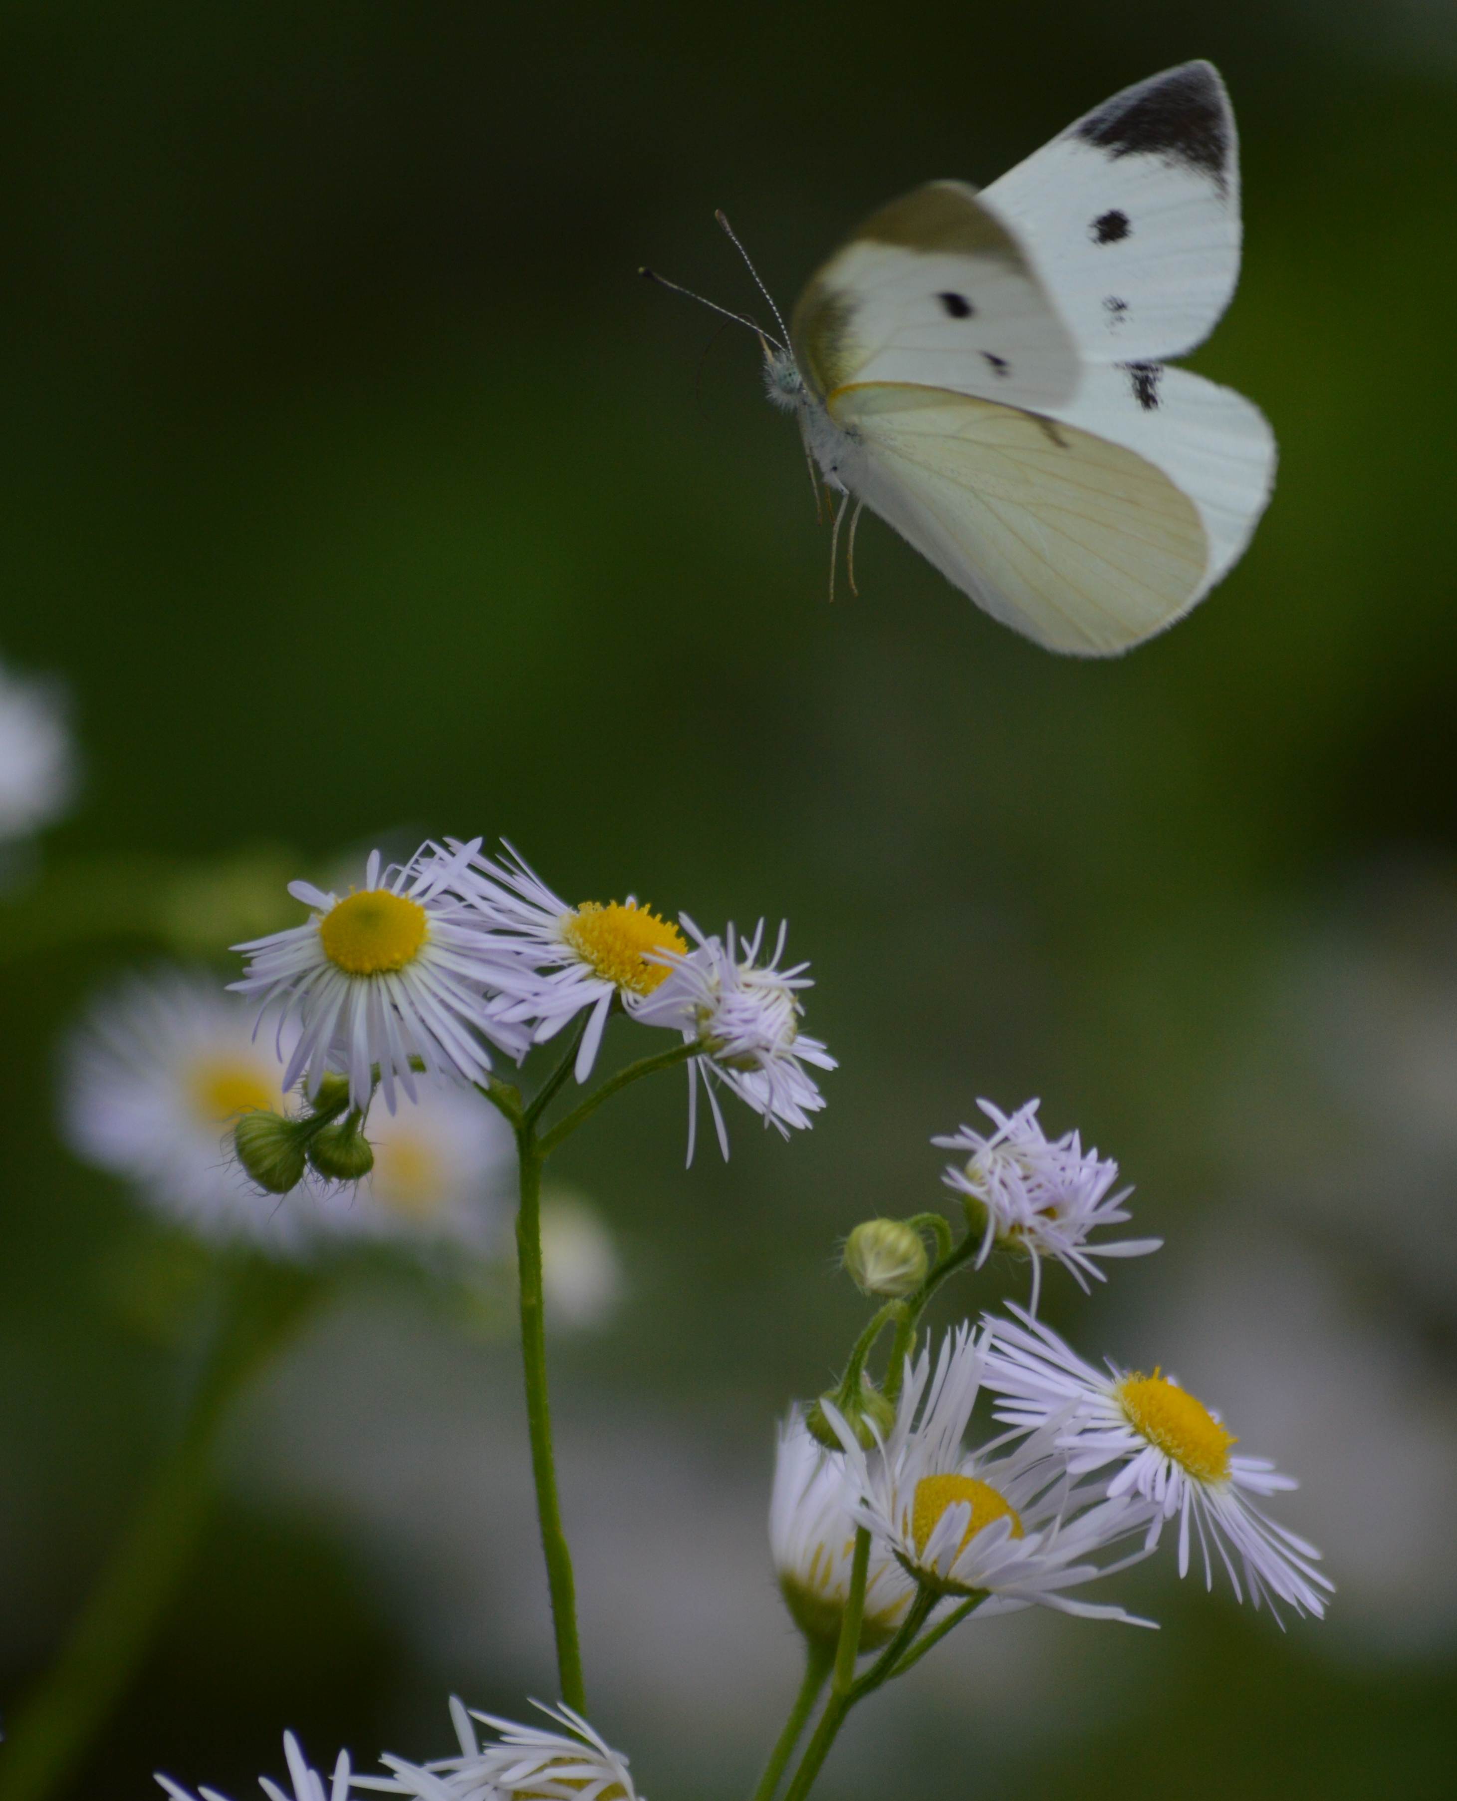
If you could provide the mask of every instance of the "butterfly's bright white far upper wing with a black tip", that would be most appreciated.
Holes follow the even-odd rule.
[[[980,195],[1095,362],[1178,357],[1239,277],[1239,142],[1210,63],[1124,88]]]

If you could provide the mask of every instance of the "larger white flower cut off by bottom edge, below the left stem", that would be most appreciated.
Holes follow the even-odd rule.
[[[540,1702],[537,1702],[540,1706]],[[571,1707],[542,1707],[560,1733],[468,1713],[450,1700],[459,1756],[409,1763],[385,1754],[389,1778],[355,1778],[357,1788],[418,1796],[421,1801],[639,1801],[627,1758]],[[481,1738],[474,1722],[495,1734]]]

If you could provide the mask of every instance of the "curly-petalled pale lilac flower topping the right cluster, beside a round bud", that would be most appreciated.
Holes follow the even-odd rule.
[[[973,1230],[982,1230],[976,1268],[994,1246],[1019,1250],[1032,1259],[1032,1313],[1041,1293],[1043,1257],[1063,1264],[1088,1291],[1088,1277],[1102,1282],[1095,1257],[1144,1257],[1163,1239],[1117,1239],[1090,1244],[1099,1226],[1129,1219],[1124,1201],[1133,1189],[1118,1189],[1118,1165],[1111,1156],[1084,1151],[1075,1131],[1048,1138],[1037,1118],[1041,1102],[1028,1100],[1007,1115],[991,1100],[976,1102],[994,1131],[987,1136],[962,1126],[931,1144],[944,1151],[969,1153],[965,1162],[949,1163],[942,1181],[967,1203]]]

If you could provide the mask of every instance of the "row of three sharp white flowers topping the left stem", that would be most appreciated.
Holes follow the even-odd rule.
[[[722,1153],[717,1088],[782,1133],[805,1129],[823,1097],[809,1066],[834,1068],[800,1032],[803,964],[782,969],[783,928],[760,960],[764,926],[744,942],[729,926],[708,937],[634,897],[571,906],[513,852],[493,861],[481,839],[427,843],[403,864],[369,857],[348,895],[294,882],[312,908],[304,926],[241,944],[249,967],[232,987],[272,1018],[283,1086],[315,1097],[326,1075],[348,1077],[360,1111],[378,1082],[418,1099],[416,1073],[483,1082],[492,1050],[522,1061],[580,1021],[573,1070],[585,1082],[612,1012],[677,1030],[690,1057],[690,1160],[699,1079]],[[688,933],[688,937],[684,937]],[[692,942],[690,942],[692,938]]]

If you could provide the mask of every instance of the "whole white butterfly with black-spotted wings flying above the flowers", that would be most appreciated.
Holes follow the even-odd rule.
[[[845,495],[836,528],[857,502],[852,557],[870,506],[1005,625],[1113,656],[1203,600],[1270,497],[1259,409],[1163,362],[1237,274],[1234,113],[1183,63],[982,193],[929,182],[872,214],[787,342],[760,333],[769,398]]]

